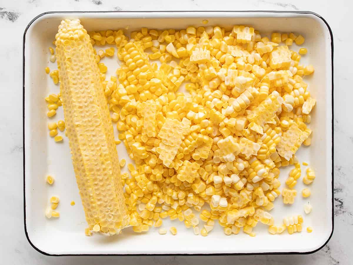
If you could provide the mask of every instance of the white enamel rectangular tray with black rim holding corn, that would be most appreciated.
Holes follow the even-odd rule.
[[[44,67],[57,69],[56,62],[49,61],[48,47],[52,45],[60,21],[79,18],[88,30],[119,29],[129,26],[128,31],[141,27],[186,28],[189,25],[232,27],[234,24],[251,25],[262,35],[276,32],[295,32],[305,36],[304,47],[308,54],[302,57],[305,64],[315,66],[315,73],[306,77],[310,93],[317,99],[310,127],[313,129],[311,147],[301,147],[297,153],[300,162],[306,161],[316,170],[312,195],[303,199],[300,191],[302,181],[297,184],[298,196],[291,206],[283,205],[282,199],[275,201],[271,211],[275,224],[282,223],[285,216],[302,214],[303,232],[293,235],[284,232],[270,235],[267,226],[255,228],[256,237],[243,232],[226,236],[218,225],[207,237],[193,234],[183,223],[163,220],[163,227],[171,225],[178,229],[173,236],[159,235],[157,229],[136,234],[131,228],[122,235],[104,237],[84,235],[83,207],[70,158],[68,140],[54,143],[49,137],[44,98],[49,93],[59,93],[59,86],[44,72]],[[295,45],[292,47],[298,50]],[[108,65],[107,77],[115,74],[118,67],[115,58],[104,58]],[[48,12],[40,14],[28,25],[24,33],[24,225],[30,244],[43,254],[254,254],[254,253],[311,253],[327,243],[333,232],[333,37],[323,18],[311,12]],[[53,120],[63,119],[62,108]],[[127,159],[123,144],[118,146],[119,157]],[[303,167],[305,174],[305,167]],[[281,169],[280,181],[284,184],[291,167]],[[122,172],[126,171],[126,166]],[[47,174],[55,177],[53,186],[44,181]],[[284,186],[282,184],[282,187]],[[282,189],[281,187],[281,189]],[[47,219],[44,209],[50,196],[58,195],[60,204],[58,219]],[[70,201],[76,202],[70,206]],[[313,206],[311,214],[303,211],[305,202]],[[307,226],[313,227],[311,234]]]

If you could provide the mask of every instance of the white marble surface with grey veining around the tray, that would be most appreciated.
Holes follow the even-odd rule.
[[[60,2],[60,3],[59,3]],[[349,101],[353,67],[350,1],[210,0],[0,0],[0,256],[2,264],[352,264],[353,126]],[[23,228],[22,36],[32,18],[69,10],[310,10],[323,16],[334,35],[335,230],[327,246],[311,255],[200,257],[47,257],[27,242]],[[352,91],[351,91],[352,90]],[[55,240],[55,238],[53,238]]]

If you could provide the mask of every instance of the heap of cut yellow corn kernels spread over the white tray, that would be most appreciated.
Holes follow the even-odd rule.
[[[314,69],[299,64],[301,56],[290,49],[293,42],[303,44],[303,36],[273,33],[270,41],[237,25],[229,31],[206,25],[180,31],[142,28],[131,39],[122,29],[89,36],[99,49],[95,58],[119,130],[115,143],[123,142],[136,164],[127,166],[131,177],[122,174],[135,232],[159,227],[167,217],[202,236],[215,222],[226,235],[243,228],[255,236],[259,221],[271,234],[302,230],[301,216],[274,226],[269,211],[281,193],[285,204],[294,202],[293,188],[301,177],[295,153],[303,142],[310,145],[306,124],[316,101],[304,76]],[[114,57],[115,48],[99,48],[106,43],[116,46],[122,62],[110,80],[100,60]],[[57,70],[49,76],[58,83]],[[188,93],[178,92],[181,84]],[[53,117],[60,95],[46,101]],[[55,125],[49,130],[50,136],[57,134]],[[295,168],[285,183],[289,189],[281,192],[279,168],[288,165]],[[303,181],[310,184],[313,178],[308,169]],[[210,210],[201,211],[204,205]],[[85,234],[91,230],[99,231],[99,224]],[[177,233],[174,227],[170,231]]]

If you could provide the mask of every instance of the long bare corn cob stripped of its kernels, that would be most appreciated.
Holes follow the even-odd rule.
[[[55,37],[66,130],[86,221],[90,231],[116,234],[127,226],[128,215],[90,37],[78,19],[62,20]]]

